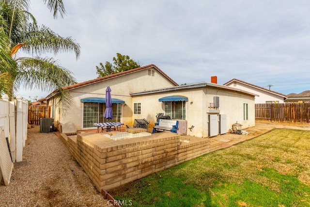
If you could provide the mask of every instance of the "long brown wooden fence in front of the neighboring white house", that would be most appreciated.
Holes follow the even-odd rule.
[[[310,103],[255,104],[255,118],[310,123]]]

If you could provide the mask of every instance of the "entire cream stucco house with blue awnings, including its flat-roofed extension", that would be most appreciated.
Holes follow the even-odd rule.
[[[227,133],[238,122],[243,128],[255,126],[255,94],[216,83],[178,85],[156,65],[112,74],[65,87],[73,105],[65,116],[55,106],[55,93],[47,96],[51,117],[59,123],[72,122],[77,130],[92,129],[105,122],[106,88],[112,97],[112,122],[132,125],[145,118],[150,127],[156,114],[179,120],[179,133],[208,137]]]

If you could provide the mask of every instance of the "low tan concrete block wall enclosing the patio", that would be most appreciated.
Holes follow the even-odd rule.
[[[67,147],[94,185],[109,190],[141,177],[221,148],[209,139],[181,143],[180,135],[156,133],[151,136],[110,140],[99,133],[61,134]]]

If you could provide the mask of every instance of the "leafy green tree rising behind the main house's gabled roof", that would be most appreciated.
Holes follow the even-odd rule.
[[[130,59],[128,55],[116,53],[116,57],[113,57],[113,64],[108,61],[105,65],[100,63],[99,66],[96,66],[96,73],[98,75],[98,78],[100,78],[113,73],[119,73],[137,67],[140,67],[140,64]]]

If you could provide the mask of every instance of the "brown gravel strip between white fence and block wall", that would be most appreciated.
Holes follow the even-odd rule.
[[[107,207],[108,201],[54,133],[28,129],[23,161],[9,186],[0,184],[2,207]]]

